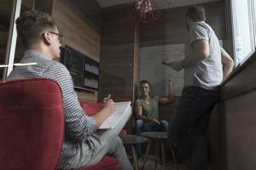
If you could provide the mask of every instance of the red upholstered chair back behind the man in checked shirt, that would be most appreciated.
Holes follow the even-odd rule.
[[[56,82],[0,82],[0,169],[55,169],[63,136],[61,88]]]

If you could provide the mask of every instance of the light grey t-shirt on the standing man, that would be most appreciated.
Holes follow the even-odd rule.
[[[215,90],[223,80],[221,63],[221,50],[218,37],[212,27],[204,21],[194,22],[189,29],[188,42],[185,44],[185,57],[189,57],[193,48],[191,43],[196,40],[209,42],[210,56],[201,60],[197,65],[184,69],[184,88],[197,86],[209,90]]]

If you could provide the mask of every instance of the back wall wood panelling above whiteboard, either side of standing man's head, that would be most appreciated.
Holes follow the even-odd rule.
[[[206,8],[206,22],[212,26],[219,39],[226,39],[224,1],[203,3]],[[160,20],[140,27],[141,46],[154,46],[185,41],[185,12],[188,7],[162,10]]]

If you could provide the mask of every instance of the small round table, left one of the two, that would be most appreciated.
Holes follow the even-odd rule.
[[[119,137],[120,137],[120,139],[123,140],[123,144],[131,145],[131,153],[132,153],[135,169],[139,170],[140,168],[139,168],[139,165],[137,162],[137,151],[135,149],[135,146],[136,146],[136,144],[147,143],[150,140],[143,136],[138,136],[138,135],[133,135],[133,134],[125,134],[125,135],[121,135]]]

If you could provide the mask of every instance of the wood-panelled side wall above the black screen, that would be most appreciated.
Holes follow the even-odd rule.
[[[52,16],[65,36],[67,45],[99,61],[101,28],[84,14],[86,8],[90,8],[88,5],[92,4],[84,3],[84,6],[79,6],[79,3],[73,3],[72,0],[55,0]],[[95,13],[100,14],[100,9]]]

